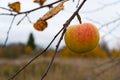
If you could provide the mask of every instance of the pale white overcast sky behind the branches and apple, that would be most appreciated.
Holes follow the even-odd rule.
[[[8,3],[14,1],[21,2],[21,12],[34,9],[39,7],[38,4],[33,3],[33,0],[0,0],[0,7],[8,8]],[[56,0],[47,0],[45,4],[49,2],[54,2]],[[78,0],[72,2],[69,0],[64,4],[64,10],[59,12],[56,16],[49,19],[48,27],[40,32],[33,28],[33,24],[37,19],[42,17],[49,9],[43,8],[37,11],[30,13],[28,16],[32,23],[29,23],[27,18],[25,18],[18,26],[16,25],[19,20],[24,15],[19,15],[15,18],[14,24],[9,34],[9,43],[26,43],[29,34],[32,32],[35,37],[35,43],[39,46],[46,47],[49,42],[53,39],[55,34],[63,27],[63,24],[67,19],[73,14],[76,10],[76,5]],[[80,0],[82,1],[82,0]],[[114,4],[113,4],[114,3]],[[100,31],[101,40],[104,39],[109,43],[111,48],[120,47],[120,1],[119,0],[87,0],[81,11],[79,12],[82,18],[82,22],[91,22],[94,23]],[[5,10],[0,9],[0,13],[8,13]],[[0,43],[4,43],[7,31],[9,29],[12,16],[1,16],[0,15]],[[118,20],[116,20],[118,19]],[[107,24],[111,21],[113,23]],[[77,18],[72,20],[71,24],[78,24],[79,21]],[[107,25],[106,25],[107,24]],[[102,26],[102,28],[101,28]],[[117,27],[116,27],[117,26]],[[116,28],[115,28],[116,27]],[[109,33],[111,32],[111,33]],[[104,38],[102,38],[106,35]],[[52,47],[55,47],[57,41],[52,44]],[[64,40],[62,41],[61,46],[64,45]],[[111,46],[112,45],[112,46]]]

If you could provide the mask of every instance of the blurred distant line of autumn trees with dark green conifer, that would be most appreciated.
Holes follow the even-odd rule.
[[[35,45],[35,39],[32,33],[30,33],[28,37],[28,41],[26,44],[18,43],[18,44],[10,44],[4,47],[0,46],[0,58],[18,58],[24,55],[29,54],[37,54],[36,51],[37,46]],[[43,50],[43,48],[39,48],[39,50]],[[50,48],[46,51],[44,57],[51,57],[54,54],[54,49]],[[66,46],[59,49],[58,57],[63,58],[71,58],[71,57],[87,57],[87,58],[108,58],[108,57],[120,57],[120,50],[113,49],[110,50],[107,46],[107,43],[103,41],[100,45],[96,47],[93,51],[87,53],[79,53],[70,51]]]

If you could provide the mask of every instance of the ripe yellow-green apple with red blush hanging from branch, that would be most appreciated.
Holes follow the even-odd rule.
[[[99,43],[99,31],[91,23],[71,25],[64,35],[66,46],[73,52],[84,53],[93,50]]]

